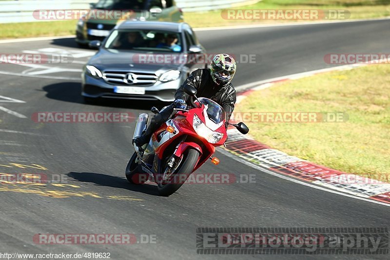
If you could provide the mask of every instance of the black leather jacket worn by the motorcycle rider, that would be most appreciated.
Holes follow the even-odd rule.
[[[226,112],[226,122],[229,122],[235,103],[235,89],[231,83],[221,88],[213,81],[209,69],[198,69],[189,75],[176,91],[175,98],[187,102],[189,95],[183,90],[185,85],[194,87],[197,97],[210,98],[218,103]]]

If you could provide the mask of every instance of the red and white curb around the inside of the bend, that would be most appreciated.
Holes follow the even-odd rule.
[[[237,95],[237,101],[244,100],[251,92],[265,89],[274,83],[284,80],[293,80],[335,70],[349,70],[366,64],[353,64],[330,69],[293,74],[284,77],[264,80],[262,84],[251,88],[251,84],[241,86],[239,89],[248,89]],[[334,170],[325,166],[317,165],[306,160],[288,155],[280,150],[272,149],[265,144],[255,141],[250,136],[242,135],[234,127],[228,129],[228,141],[226,149],[238,157],[249,161],[255,165],[267,168],[273,172],[287,175],[303,182],[338,190],[342,193],[351,194],[365,200],[377,201],[380,204],[390,204],[390,183],[381,182],[363,176]]]

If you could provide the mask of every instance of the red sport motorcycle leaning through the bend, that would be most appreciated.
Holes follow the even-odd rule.
[[[192,108],[174,109],[171,119],[153,133],[149,144],[142,149],[134,146],[136,151],[126,167],[130,183],[155,182],[160,196],[175,193],[207,160],[219,163],[213,155],[227,139],[228,124],[243,134],[249,132],[244,123],[226,123],[222,107],[211,99],[197,98],[195,88],[186,86],[184,91],[191,96]],[[159,111],[152,108],[152,112]],[[148,117],[147,113],[139,115],[133,138],[146,130]]]

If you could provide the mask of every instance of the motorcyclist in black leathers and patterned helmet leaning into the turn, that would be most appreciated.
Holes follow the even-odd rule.
[[[218,103],[225,110],[225,121],[229,122],[236,100],[235,89],[231,84],[236,68],[237,64],[232,56],[218,54],[211,61],[210,69],[194,71],[177,89],[175,101],[152,118],[146,132],[133,139],[133,144],[142,149],[143,145],[149,143],[152,134],[169,119],[174,108],[187,109],[189,95],[183,90],[186,85],[197,90],[197,97],[206,97]]]

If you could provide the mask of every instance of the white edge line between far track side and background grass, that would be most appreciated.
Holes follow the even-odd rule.
[[[351,19],[351,20],[334,20],[334,21],[316,21],[316,22],[286,22],[286,23],[269,23],[269,24],[248,24],[248,25],[234,25],[234,26],[219,26],[219,27],[201,27],[193,28],[194,31],[216,31],[216,30],[237,30],[237,29],[252,29],[263,27],[283,27],[283,26],[305,26],[312,24],[326,24],[326,23],[347,23],[347,22],[361,22],[361,21],[381,21],[389,20],[390,17],[374,18],[374,19]]]

